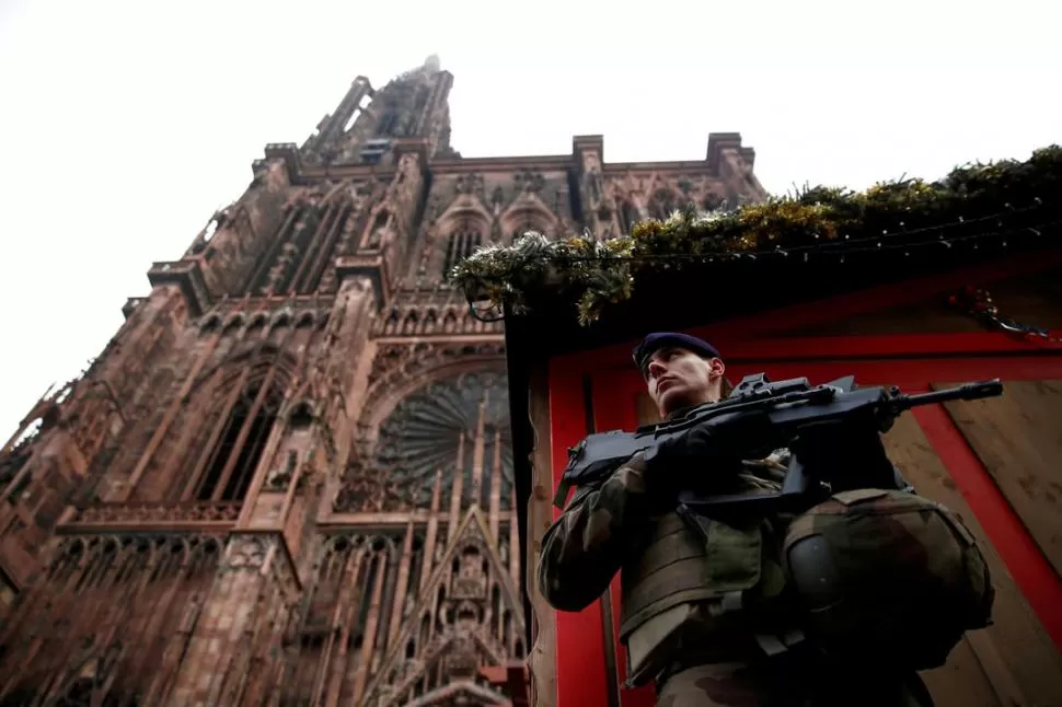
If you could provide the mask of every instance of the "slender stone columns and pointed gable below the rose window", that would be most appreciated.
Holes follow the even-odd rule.
[[[523,656],[519,570],[507,566],[475,507],[449,529],[347,529],[330,535],[311,595],[290,634],[282,704],[330,689],[351,704],[449,704],[459,687],[501,704],[481,674]],[[419,702],[418,702],[419,700]]]

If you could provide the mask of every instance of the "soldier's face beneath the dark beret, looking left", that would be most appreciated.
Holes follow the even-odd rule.
[[[719,398],[726,367],[718,358],[701,358],[679,347],[666,347],[653,354],[645,368],[649,397],[660,417],[674,410]]]

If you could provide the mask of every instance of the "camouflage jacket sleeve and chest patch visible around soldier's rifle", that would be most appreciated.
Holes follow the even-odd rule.
[[[738,482],[749,490],[781,488],[788,452],[747,461]],[[608,589],[649,523],[661,512],[640,454],[603,483],[580,487],[542,538],[538,584],[559,611],[581,611]],[[666,510],[666,509],[665,509]]]

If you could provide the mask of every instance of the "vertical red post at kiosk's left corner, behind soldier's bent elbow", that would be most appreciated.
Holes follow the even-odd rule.
[[[550,366],[550,432],[553,489],[567,465],[568,448],[586,437],[582,375],[564,367]],[[561,514],[554,509],[554,519]],[[556,612],[556,705],[569,707],[608,704],[608,685],[602,641],[601,602],[581,612]]]

